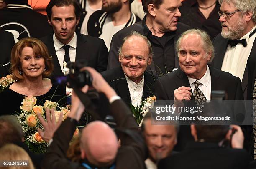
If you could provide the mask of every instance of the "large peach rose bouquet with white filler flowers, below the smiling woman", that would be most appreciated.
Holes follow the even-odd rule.
[[[24,97],[22,106],[20,106],[21,112],[16,115],[18,121],[24,132],[25,143],[31,152],[45,153],[48,148],[48,143],[45,142],[40,136],[37,129],[40,128],[44,131],[43,125],[40,123],[38,116],[42,116],[45,121],[46,108],[54,109],[56,122],[59,121],[61,112],[63,113],[63,120],[67,118],[70,110],[64,107],[59,107],[58,103],[46,100],[43,106],[36,105],[36,97],[27,96]]]

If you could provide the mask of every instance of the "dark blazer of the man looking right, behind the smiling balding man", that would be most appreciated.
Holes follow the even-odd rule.
[[[140,22],[137,22],[136,24],[133,24],[129,27],[125,27],[124,29],[118,31],[115,35],[113,35],[111,44],[110,44],[110,50],[109,50],[109,58],[108,58],[108,70],[112,69],[114,67],[118,67],[120,65],[118,61],[118,50],[120,46],[122,45],[123,38],[127,36],[129,33],[131,33],[132,30],[137,31],[141,35],[145,35],[145,32],[143,31],[143,26],[145,24],[145,19],[141,20]],[[183,24],[183,23],[177,23],[177,30],[175,32],[174,36],[174,44],[176,44],[177,40],[179,39],[180,35],[185,32],[186,30],[191,29],[191,27]],[[152,49],[154,52],[154,45],[152,45]],[[175,56],[175,67],[179,67],[179,57],[177,57],[177,51],[174,47],[174,54]],[[152,63],[150,66],[148,66],[147,70],[151,70],[151,72],[156,72],[155,66],[154,66],[154,57],[152,60]]]

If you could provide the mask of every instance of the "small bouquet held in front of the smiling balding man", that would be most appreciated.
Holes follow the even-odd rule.
[[[136,118],[136,122],[139,124],[139,127],[141,127],[143,118],[148,113],[149,109],[154,107],[154,103],[156,102],[156,96],[150,96],[146,100],[143,100],[141,102],[140,107],[135,107],[131,104],[131,111],[133,113],[133,117]]]

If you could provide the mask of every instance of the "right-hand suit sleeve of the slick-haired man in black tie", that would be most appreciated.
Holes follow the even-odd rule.
[[[97,63],[97,71],[98,72],[103,72],[107,70],[107,65],[108,65],[108,48],[105,45],[104,40],[100,39],[100,48],[98,52],[98,63]]]

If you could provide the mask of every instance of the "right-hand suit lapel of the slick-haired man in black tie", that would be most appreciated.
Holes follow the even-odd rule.
[[[88,49],[86,49],[86,45],[84,45],[86,41],[87,40],[84,37],[82,37],[80,33],[77,33],[76,60],[89,60],[89,56],[86,55]]]

